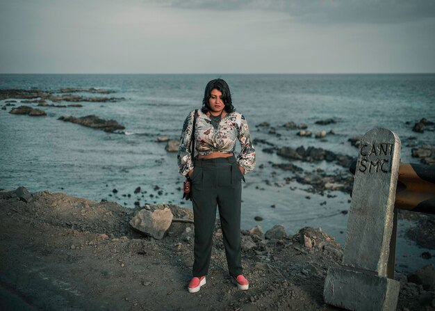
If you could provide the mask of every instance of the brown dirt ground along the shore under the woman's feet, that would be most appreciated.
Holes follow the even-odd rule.
[[[170,207],[175,218],[190,209]],[[242,232],[248,291],[229,279],[217,223],[207,284],[189,294],[193,224],[173,222],[156,240],[135,232],[139,210],[65,193],[0,199],[0,310],[340,310],[322,296],[343,251],[322,230],[263,239]],[[306,247],[309,240],[311,248]],[[401,282],[397,310],[435,310],[434,292]]]

